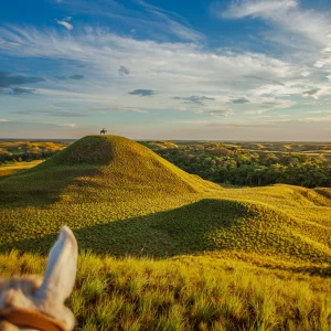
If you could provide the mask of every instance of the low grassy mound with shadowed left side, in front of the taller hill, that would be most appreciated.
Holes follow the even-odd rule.
[[[76,214],[75,220],[67,220],[66,224],[71,227],[77,227],[77,223],[87,225],[90,207],[89,204],[83,207],[84,212]],[[100,210],[100,205],[98,207]],[[119,207],[114,205],[117,212],[120,212]],[[61,218],[65,217],[63,212],[47,210],[46,213],[52,213],[49,218],[53,220],[53,224],[60,221],[61,226]],[[301,264],[331,264],[330,222],[321,224],[301,220],[264,203],[202,199],[169,211],[114,221],[108,216],[104,224],[78,226],[81,228],[75,231],[78,242],[85,249],[115,256],[162,258],[232,252],[259,255],[259,260],[273,257]],[[26,225],[21,228],[22,232],[29,232]],[[8,241],[8,234],[2,238]],[[53,236],[33,238],[12,247],[35,252],[39,249],[34,247],[49,248],[53,241]]]

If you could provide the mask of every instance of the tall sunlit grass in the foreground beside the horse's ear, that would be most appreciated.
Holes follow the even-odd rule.
[[[45,259],[0,255],[0,271],[43,274]],[[329,279],[212,256],[168,260],[82,254],[68,301],[76,330],[331,329]]]

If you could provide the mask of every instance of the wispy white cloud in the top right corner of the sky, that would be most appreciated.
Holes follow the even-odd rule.
[[[233,0],[227,10],[218,10],[217,15],[264,20],[270,29],[260,31],[260,36],[270,47],[277,43],[297,64],[306,64],[313,71],[331,64],[331,19],[328,11],[302,8],[298,0]]]

